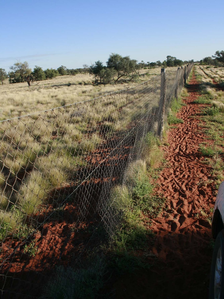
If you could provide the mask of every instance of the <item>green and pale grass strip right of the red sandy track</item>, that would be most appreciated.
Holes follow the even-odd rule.
[[[206,69],[207,70],[207,69]],[[223,68],[217,68],[220,74],[223,74]],[[207,164],[212,166],[211,175],[215,178],[216,187],[218,189],[223,181],[223,132],[224,132],[224,91],[220,89],[222,80],[215,80],[211,77],[211,73],[202,71],[201,66],[195,66],[195,74],[200,83],[200,96],[195,103],[210,104],[207,108],[202,109],[202,120],[204,123],[201,126],[204,128],[203,133],[212,140],[212,144],[200,144],[200,151],[206,157]],[[215,85],[215,82],[220,82]]]

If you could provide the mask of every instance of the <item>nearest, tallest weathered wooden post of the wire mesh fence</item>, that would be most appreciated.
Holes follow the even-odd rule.
[[[161,85],[160,85],[160,98],[159,98],[159,115],[158,115],[158,128],[157,136],[162,141],[163,120],[165,114],[166,102],[166,69],[161,68]]]

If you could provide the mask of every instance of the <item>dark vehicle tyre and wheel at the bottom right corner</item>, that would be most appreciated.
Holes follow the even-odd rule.
[[[224,229],[216,237],[209,283],[209,299],[224,299]]]

